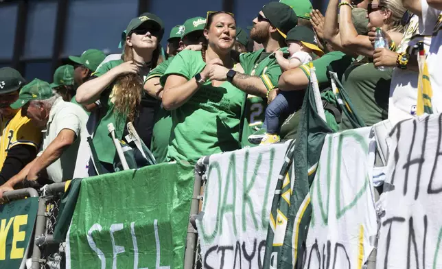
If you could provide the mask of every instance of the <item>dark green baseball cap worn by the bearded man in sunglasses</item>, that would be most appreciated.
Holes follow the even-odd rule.
[[[283,38],[287,37],[288,31],[298,25],[296,13],[294,13],[290,6],[284,3],[270,2],[264,5],[261,11],[268,21],[277,27],[279,34],[281,34]]]

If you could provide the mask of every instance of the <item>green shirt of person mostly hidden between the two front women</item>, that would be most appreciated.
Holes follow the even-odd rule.
[[[159,78],[164,75],[167,67],[172,62],[172,58],[168,58],[161,63],[158,67],[155,67],[148,74],[146,81],[151,78]],[[144,83],[146,83],[146,81]],[[170,131],[172,130],[172,115],[170,111],[161,107],[156,114],[155,124],[152,130],[152,142],[150,143],[150,151],[155,157],[156,163],[164,163],[167,161],[167,147],[169,146]]]

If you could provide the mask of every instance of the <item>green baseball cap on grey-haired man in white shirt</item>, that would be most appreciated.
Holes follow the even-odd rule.
[[[27,104],[27,102],[33,100],[47,100],[52,96],[54,96],[54,92],[52,91],[51,86],[49,86],[49,83],[34,78],[32,82],[23,86],[20,91],[19,100],[12,103],[10,107],[13,109],[19,109]]]

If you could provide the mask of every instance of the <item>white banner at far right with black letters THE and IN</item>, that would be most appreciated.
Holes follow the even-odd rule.
[[[442,114],[391,132],[376,268],[442,268]]]

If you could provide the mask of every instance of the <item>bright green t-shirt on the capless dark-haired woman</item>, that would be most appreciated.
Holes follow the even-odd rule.
[[[187,80],[204,69],[200,51],[181,51],[161,77],[181,75]],[[196,163],[201,156],[239,148],[244,93],[229,82],[219,87],[208,81],[182,106],[172,110],[172,135],[167,160]]]

